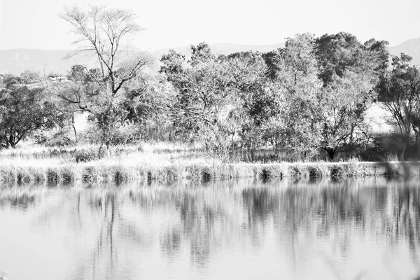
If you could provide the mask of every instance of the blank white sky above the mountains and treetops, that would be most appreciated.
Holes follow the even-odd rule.
[[[142,50],[206,43],[267,45],[309,32],[346,31],[398,45],[420,37],[420,0],[0,0],[0,50],[76,48],[64,6],[129,8],[144,28],[132,39]]]

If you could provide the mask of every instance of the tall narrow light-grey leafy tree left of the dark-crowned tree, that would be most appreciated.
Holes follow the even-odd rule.
[[[311,34],[288,38],[274,58],[276,114],[265,122],[265,130],[274,146],[305,158],[314,151],[318,133],[314,110],[322,83],[318,80],[315,41]]]

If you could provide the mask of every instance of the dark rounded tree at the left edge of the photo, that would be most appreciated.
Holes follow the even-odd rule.
[[[40,87],[11,86],[0,91],[0,146],[15,146],[35,130],[62,125],[64,118],[55,104],[44,99]]]

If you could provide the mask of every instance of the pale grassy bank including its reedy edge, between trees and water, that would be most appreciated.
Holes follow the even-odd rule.
[[[342,179],[419,176],[420,162],[225,162],[200,146],[141,144],[106,151],[99,146],[0,151],[1,183],[130,183],[224,179]]]

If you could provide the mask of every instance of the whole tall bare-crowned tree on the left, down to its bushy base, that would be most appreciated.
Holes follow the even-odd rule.
[[[141,31],[141,28],[135,23],[135,15],[124,9],[89,6],[87,10],[81,10],[73,6],[66,8],[61,17],[80,36],[75,43],[85,43],[78,52],[93,53],[99,63],[98,70],[88,70],[86,67],[85,71],[81,71],[80,67],[73,69],[78,73],[83,72],[78,78],[88,78],[89,87],[94,92],[80,92],[76,98],[67,95],[64,99],[90,112],[90,120],[99,128],[102,143],[108,148],[128,114],[121,107],[124,104],[124,85],[151,63],[151,57],[144,52],[123,48],[127,39]]]

